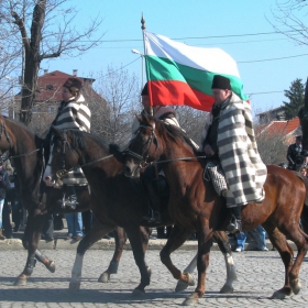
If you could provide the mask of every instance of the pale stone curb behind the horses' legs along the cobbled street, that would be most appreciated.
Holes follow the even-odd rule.
[[[157,250],[161,251],[163,246],[166,244],[167,240],[150,240],[147,250]],[[230,240],[231,246],[235,249],[235,242]],[[77,249],[79,242],[74,240],[68,241],[64,239],[55,239],[53,241],[44,241],[41,240],[38,243],[40,250],[75,250]],[[288,244],[294,251],[297,251],[296,245],[294,242],[288,241]],[[266,240],[266,248],[268,251],[273,250],[272,243]],[[130,243],[125,244],[125,250],[132,250]],[[11,251],[11,250],[24,250],[22,245],[22,241],[20,239],[9,239],[0,241],[0,251]],[[96,242],[90,250],[106,250],[106,251],[113,251],[114,250],[114,240],[99,240]],[[196,251],[198,250],[198,241],[186,241],[178,250],[185,251]],[[245,244],[245,251],[254,251],[255,246],[253,243]],[[213,243],[211,246],[211,251],[219,251],[218,244]]]

